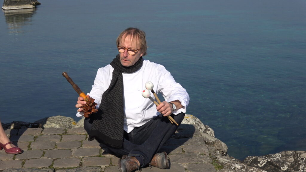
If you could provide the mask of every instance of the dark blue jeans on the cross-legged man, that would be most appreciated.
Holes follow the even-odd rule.
[[[171,116],[178,124],[181,124],[185,114],[172,114]],[[150,163],[162,145],[175,133],[177,127],[177,125],[171,124],[167,117],[160,114],[146,124],[134,128],[130,133],[124,132],[122,149],[111,148],[102,144],[101,141],[97,141],[102,148],[108,148],[119,157],[123,155],[135,156],[139,160],[140,166],[145,166]],[[90,132],[89,118],[84,120],[84,129],[87,133]]]

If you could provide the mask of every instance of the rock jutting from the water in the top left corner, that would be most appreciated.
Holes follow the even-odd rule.
[[[27,9],[35,8],[40,3],[37,0],[4,0],[2,9]]]

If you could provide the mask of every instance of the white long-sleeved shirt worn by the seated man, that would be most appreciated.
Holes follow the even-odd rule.
[[[95,99],[98,106],[101,103],[103,93],[110,85],[113,78],[114,68],[106,65],[98,69],[94,84],[88,95]],[[145,83],[151,81],[154,85],[153,90],[156,94],[162,93],[167,102],[179,100],[183,106],[177,109],[173,114],[186,112],[189,103],[189,95],[181,84],[175,82],[164,66],[144,60],[142,67],[134,73],[122,73],[124,85],[124,130],[132,131],[134,127],[144,125],[153,117],[160,113],[156,110],[156,105],[142,96]],[[154,95],[151,97],[155,99]],[[76,116],[83,117],[83,113],[77,113]]]

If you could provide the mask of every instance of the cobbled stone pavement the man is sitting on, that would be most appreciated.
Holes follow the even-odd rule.
[[[118,172],[118,160],[84,128],[7,129],[10,140],[24,150],[19,155],[0,151],[0,172]],[[196,125],[181,124],[161,151],[170,169],[142,168],[142,172],[215,172],[207,146]]]

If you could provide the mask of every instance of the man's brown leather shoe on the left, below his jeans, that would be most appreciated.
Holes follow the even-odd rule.
[[[136,169],[140,170],[140,163],[134,156],[127,156],[125,159],[120,159],[119,166],[121,172],[131,172]]]

